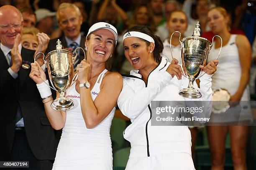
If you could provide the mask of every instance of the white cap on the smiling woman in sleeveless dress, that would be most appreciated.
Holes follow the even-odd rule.
[[[110,30],[115,36],[115,45],[116,45],[116,43],[118,41],[118,33],[117,33],[116,28],[113,25],[109,24],[109,23],[100,22],[100,23],[93,24],[90,27],[90,29],[89,29],[89,31],[86,35],[86,38],[90,33],[94,32],[94,31],[97,31],[97,30],[100,30],[100,29]]]

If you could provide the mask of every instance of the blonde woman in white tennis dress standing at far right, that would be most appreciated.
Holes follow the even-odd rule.
[[[212,90],[224,88],[230,93],[230,109],[237,101],[250,101],[248,81],[251,66],[251,45],[244,35],[232,35],[229,32],[230,17],[223,7],[214,7],[208,12],[208,24],[215,35],[223,39],[218,70],[212,76]],[[220,40],[213,43],[208,60],[211,60],[220,47]],[[243,77],[243,78],[242,78]],[[207,126],[208,141],[212,154],[212,170],[223,169],[225,163],[225,139],[230,133],[231,153],[234,169],[246,169],[246,143],[248,126],[230,126],[229,123],[250,122],[250,105],[241,102],[241,112],[220,114],[218,122],[225,126]],[[230,110],[229,109],[229,110]],[[225,116],[226,114],[226,116]],[[221,118],[221,116],[225,118]],[[216,114],[216,118],[217,118]],[[216,123],[218,123],[216,122]]]

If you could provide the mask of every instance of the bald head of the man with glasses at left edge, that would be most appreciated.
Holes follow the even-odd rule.
[[[13,48],[17,34],[23,29],[23,18],[20,11],[11,5],[0,7],[0,41],[5,47]]]

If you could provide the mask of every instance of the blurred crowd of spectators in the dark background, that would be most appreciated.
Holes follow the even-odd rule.
[[[182,10],[187,15],[188,27],[184,36],[190,36],[197,20],[200,21],[201,33],[206,38],[212,37],[207,24],[207,11],[214,6],[223,6],[230,15],[230,32],[244,34],[253,45],[256,33],[256,2],[249,0],[5,0],[0,5],[14,5],[20,9],[24,18],[24,27],[36,27],[51,39],[61,37],[63,29],[58,25],[55,12],[63,2],[74,3],[82,15],[81,35],[87,34],[94,23],[105,21],[118,29],[119,35],[134,25],[147,25],[164,42],[169,36],[166,23],[174,10]],[[125,63],[123,44],[119,39],[118,48],[112,57],[111,70],[129,73],[130,65]],[[210,40],[211,38],[209,38]],[[255,50],[254,50],[255,51]],[[255,53],[254,53],[255,55]],[[253,59],[256,62],[256,59]],[[254,62],[253,62],[254,64]],[[252,69],[251,92],[254,92],[256,72]]]

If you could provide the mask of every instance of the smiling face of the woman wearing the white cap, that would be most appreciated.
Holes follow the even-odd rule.
[[[113,53],[115,47],[115,36],[110,30],[100,29],[88,35],[85,46],[88,62],[106,62]]]

